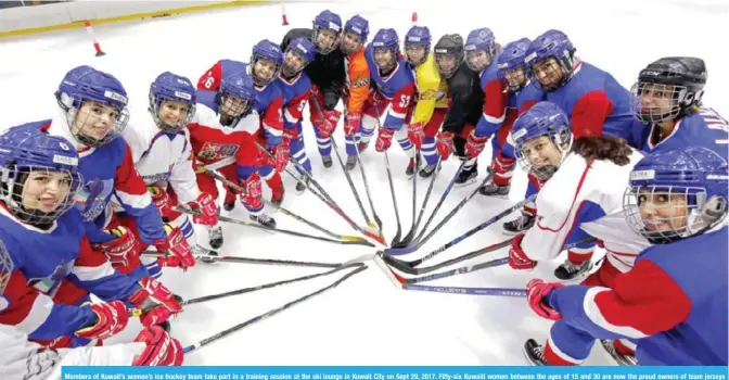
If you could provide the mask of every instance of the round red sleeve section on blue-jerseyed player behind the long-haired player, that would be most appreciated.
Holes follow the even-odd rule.
[[[575,102],[570,114],[570,124],[576,138],[602,135],[605,119],[615,105],[605,91],[590,91]]]

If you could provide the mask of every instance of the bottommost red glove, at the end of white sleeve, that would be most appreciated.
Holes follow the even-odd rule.
[[[182,345],[159,326],[151,326],[140,331],[135,342],[142,342],[146,344],[146,347],[135,358],[132,366],[182,365],[184,358]]]

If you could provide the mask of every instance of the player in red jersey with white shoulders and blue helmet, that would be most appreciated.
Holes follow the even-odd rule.
[[[197,90],[195,115],[188,125],[190,141],[195,155],[197,186],[204,193],[218,199],[215,178],[205,170],[217,170],[245,191],[238,194],[250,213],[251,220],[266,227],[276,227],[276,220],[264,213],[256,147],[259,117],[254,103],[256,89],[251,75],[245,71],[226,73],[218,91]],[[223,204],[235,202],[227,193]],[[231,207],[228,207],[231,208]],[[209,245],[217,250],[222,245],[222,227],[208,228]]]

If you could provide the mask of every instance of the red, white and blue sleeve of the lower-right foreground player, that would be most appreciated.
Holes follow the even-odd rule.
[[[650,259],[639,259],[613,289],[570,286],[549,294],[568,325],[599,339],[640,339],[674,328],[691,313],[681,287]]]

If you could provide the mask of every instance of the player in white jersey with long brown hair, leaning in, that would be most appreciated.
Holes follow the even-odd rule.
[[[509,264],[514,269],[532,269],[537,261],[557,258],[564,244],[577,243],[567,253],[568,263],[576,264],[558,267],[554,276],[571,280],[588,273],[596,243],[583,242],[590,236],[580,225],[622,206],[622,183],[640,153],[615,137],[575,138],[566,114],[551,102],[539,102],[521,115],[512,136],[520,164],[545,185],[536,199],[538,221],[514,237]],[[624,273],[634,259],[635,254],[619,256],[603,267],[619,263],[605,270]]]

